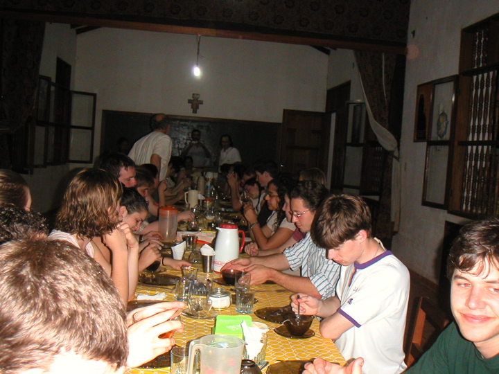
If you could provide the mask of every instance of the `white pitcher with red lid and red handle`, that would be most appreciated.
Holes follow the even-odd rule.
[[[245,233],[236,224],[220,224],[215,242],[213,271],[220,272],[223,265],[239,257],[245,244]],[[239,233],[242,235],[239,244]]]

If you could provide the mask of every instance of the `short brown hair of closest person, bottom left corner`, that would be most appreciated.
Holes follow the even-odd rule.
[[[126,365],[125,310],[111,278],[69,242],[0,247],[0,368],[49,371],[62,353]]]

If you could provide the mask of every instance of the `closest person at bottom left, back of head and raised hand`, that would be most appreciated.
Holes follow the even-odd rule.
[[[80,249],[40,235],[8,242],[0,247],[0,371],[123,373],[170,350],[175,339],[158,336],[183,330],[168,321],[180,308],[159,303],[125,323],[111,279]]]

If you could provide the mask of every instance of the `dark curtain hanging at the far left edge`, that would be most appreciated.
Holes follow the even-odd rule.
[[[0,19],[0,168],[26,168],[44,22]]]

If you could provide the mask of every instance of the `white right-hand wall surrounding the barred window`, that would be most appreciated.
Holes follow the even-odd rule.
[[[426,143],[414,143],[414,114],[418,84],[458,73],[461,29],[499,12],[498,1],[417,0],[411,2],[408,44],[419,49],[405,73],[401,137],[402,211],[393,249],[410,269],[431,281],[439,278],[437,253],[444,222],[466,220],[446,211],[421,206]],[[415,30],[412,38],[411,31]]]

